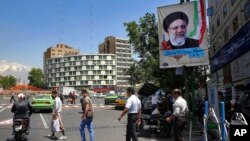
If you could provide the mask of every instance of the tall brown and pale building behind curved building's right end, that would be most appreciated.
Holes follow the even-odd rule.
[[[117,88],[123,89],[129,86],[129,75],[127,70],[132,64],[131,44],[127,39],[121,39],[114,36],[105,38],[105,41],[99,45],[99,54],[116,54],[117,69]]]

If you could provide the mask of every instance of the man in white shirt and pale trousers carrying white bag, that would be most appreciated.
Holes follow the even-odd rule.
[[[62,101],[60,99],[60,95],[57,94],[56,90],[52,91],[52,98],[55,100],[54,102],[54,107],[53,107],[53,114],[52,114],[52,121],[56,118],[59,119],[59,124],[60,124],[60,129],[62,132],[62,136],[60,138],[58,138],[59,140],[65,140],[66,136],[65,136],[65,129],[64,129],[64,125],[62,122],[62,116],[61,116],[61,112],[62,112]],[[53,128],[53,127],[51,127]],[[52,133],[48,135],[49,138],[57,138],[55,136],[55,131],[52,130]]]

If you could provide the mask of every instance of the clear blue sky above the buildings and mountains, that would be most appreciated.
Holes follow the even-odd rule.
[[[128,38],[124,22],[179,0],[0,0],[0,60],[30,67],[58,43],[98,53],[107,36]]]

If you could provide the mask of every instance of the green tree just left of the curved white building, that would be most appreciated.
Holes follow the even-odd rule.
[[[40,68],[32,68],[29,72],[29,85],[38,88],[45,88],[44,74]]]

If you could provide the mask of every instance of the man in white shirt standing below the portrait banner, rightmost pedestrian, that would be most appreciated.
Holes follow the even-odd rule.
[[[175,141],[183,141],[182,134],[187,124],[188,106],[187,101],[181,96],[181,90],[174,89],[172,96],[175,100],[173,104],[173,114],[167,117],[167,122],[173,121]]]

